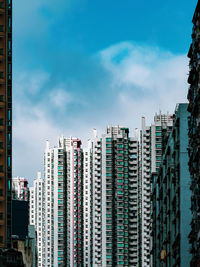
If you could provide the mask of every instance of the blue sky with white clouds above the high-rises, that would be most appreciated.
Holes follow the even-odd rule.
[[[13,1],[13,176],[43,171],[45,141],[187,101],[191,0]]]

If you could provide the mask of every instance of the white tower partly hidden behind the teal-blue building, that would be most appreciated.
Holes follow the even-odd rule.
[[[169,114],[156,114],[154,123],[146,125],[142,118],[140,134],[140,265],[150,266],[151,247],[151,174],[158,172],[162,160],[163,133],[173,126],[173,117]]]

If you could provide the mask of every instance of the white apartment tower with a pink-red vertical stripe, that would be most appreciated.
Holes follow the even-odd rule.
[[[77,138],[60,138],[45,150],[43,261],[41,266],[83,262],[83,151]],[[40,265],[39,265],[40,266]]]

